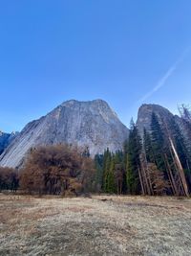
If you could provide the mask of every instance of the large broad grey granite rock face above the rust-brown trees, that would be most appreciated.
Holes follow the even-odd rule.
[[[0,166],[19,168],[26,154],[40,145],[68,143],[88,146],[91,155],[121,150],[129,130],[102,101],[68,101],[29,123],[0,157]]]

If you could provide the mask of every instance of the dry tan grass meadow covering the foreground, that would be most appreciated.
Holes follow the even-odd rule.
[[[0,255],[191,255],[191,200],[0,195]]]

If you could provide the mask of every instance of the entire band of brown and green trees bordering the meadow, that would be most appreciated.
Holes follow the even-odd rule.
[[[191,113],[180,108],[186,132],[172,119],[152,113],[150,129],[139,134],[131,121],[123,150],[106,149],[92,159],[88,147],[72,145],[31,149],[19,170],[0,167],[0,191],[18,189],[28,194],[186,196],[191,191]]]

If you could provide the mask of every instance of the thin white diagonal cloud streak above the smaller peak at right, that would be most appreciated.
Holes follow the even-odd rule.
[[[183,52],[180,58],[178,58],[178,60],[167,70],[164,76],[161,79],[159,79],[157,85],[151,91],[146,93],[138,102],[144,102],[145,100],[150,98],[154,93],[159,91],[159,89],[165,85],[166,81],[175,73],[178,66],[180,65],[180,62],[182,62],[183,58],[185,57],[186,54],[188,54],[189,51],[190,48],[186,48],[186,50]]]

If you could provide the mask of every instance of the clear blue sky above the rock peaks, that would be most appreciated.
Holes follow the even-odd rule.
[[[0,129],[69,99],[106,100],[122,122],[142,103],[191,103],[190,0],[0,3]]]

